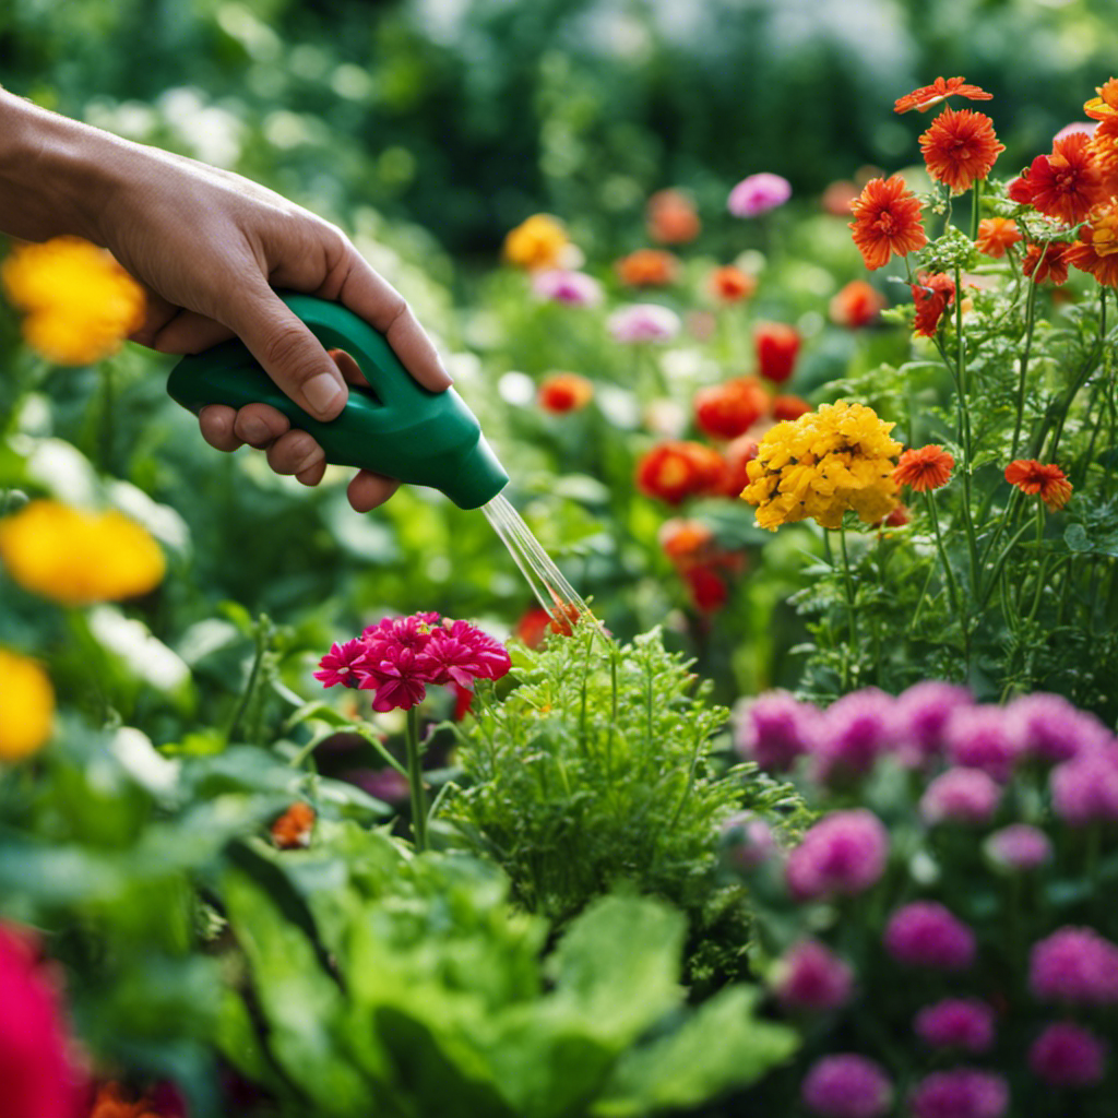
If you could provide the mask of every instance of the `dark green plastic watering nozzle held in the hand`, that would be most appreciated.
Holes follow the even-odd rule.
[[[196,415],[208,404],[269,404],[313,435],[328,462],[437,489],[461,509],[476,509],[504,489],[509,475],[453,388],[433,392],[417,383],[383,335],[341,304],[281,297],[326,349],[349,353],[369,381],[368,389],[350,386],[337,419],[307,415],[237,340],[183,358],[167,382],[171,397]]]

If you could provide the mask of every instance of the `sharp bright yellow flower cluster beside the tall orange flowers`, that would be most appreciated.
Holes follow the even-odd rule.
[[[769,531],[808,517],[839,528],[847,509],[874,524],[897,506],[901,445],[889,437],[892,428],[873,408],[845,400],[778,423],[746,467],[741,498],[757,505],[757,523]]]

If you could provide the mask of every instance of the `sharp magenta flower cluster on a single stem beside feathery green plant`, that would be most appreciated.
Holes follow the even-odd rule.
[[[372,691],[376,711],[410,710],[428,683],[472,689],[475,680],[499,680],[512,666],[504,645],[468,622],[436,613],[386,617],[360,637],[334,644],[314,678]]]

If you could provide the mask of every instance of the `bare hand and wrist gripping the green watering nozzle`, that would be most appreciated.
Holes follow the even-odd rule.
[[[333,419],[347,383],[364,378],[348,354],[328,354],[273,288],[342,303],[385,334],[420,385],[442,391],[451,383],[407,302],[337,226],[240,176],[122,140],[3,89],[0,231],[34,241],[78,236],[107,248],[148,293],[132,341],[197,353],[236,335],[284,394],[320,419]],[[211,405],[199,427],[210,446],[257,447],[276,473],[304,485],[325,472],[319,444],[267,405]],[[360,471],[350,503],[368,512],[398,484]]]

